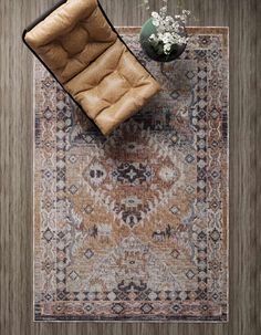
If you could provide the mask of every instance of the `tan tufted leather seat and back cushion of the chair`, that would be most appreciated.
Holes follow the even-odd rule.
[[[24,34],[25,43],[108,135],[159,91],[96,0],[69,0]]]

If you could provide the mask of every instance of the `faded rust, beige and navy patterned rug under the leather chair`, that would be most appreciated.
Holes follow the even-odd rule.
[[[108,138],[35,62],[35,321],[227,321],[228,30],[119,31],[163,90]]]

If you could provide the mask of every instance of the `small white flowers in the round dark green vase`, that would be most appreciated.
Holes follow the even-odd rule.
[[[180,14],[174,17],[168,15],[168,0],[163,0],[164,6],[159,12],[152,12],[152,23],[156,28],[156,32],[152,33],[148,42],[157,52],[157,54],[169,55],[174,48],[187,43],[185,25],[187,23],[190,11],[181,10]],[[144,0],[146,10],[149,10],[148,0]]]

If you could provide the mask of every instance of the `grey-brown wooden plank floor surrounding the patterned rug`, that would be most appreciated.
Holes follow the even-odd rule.
[[[139,25],[142,0],[103,0],[116,25]],[[152,0],[157,8],[159,0]],[[169,0],[173,9],[176,0]],[[261,1],[185,0],[197,25],[230,27],[230,322],[32,322],[32,55],[23,28],[53,0],[0,0],[0,334],[261,334]]]

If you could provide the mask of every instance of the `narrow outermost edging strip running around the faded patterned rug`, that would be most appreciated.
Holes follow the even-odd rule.
[[[142,27],[115,27],[115,29],[118,31],[119,34],[123,33],[132,33],[132,34],[137,34],[139,33]],[[202,33],[202,34],[222,34],[223,39],[225,39],[225,46],[226,46],[226,53],[227,53],[227,57],[228,57],[228,88],[227,88],[227,93],[228,93],[228,113],[227,113],[227,122],[228,122],[228,134],[227,134],[227,307],[228,307],[228,313],[225,315],[226,320],[215,320],[215,316],[210,316],[208,317],[209,320],[192,320],[191,316],[188,316],[188,320],[185,320],[186,317],[180,317],[182,320],[138,320],[138,317],[136,317],[135,320],[132,318],[132,316],[126,317],[123,316],[122,318],[117,318],[117,320],[105,320],[103,317],[101,317],[100,320],[97,318],[84,318],[76,316],[75,318],[77,320],[73,320],[74,317],[71,316],[71,320],[66,320],[69,316],[64,316],[64,317],[56,317],[56,316],[41,316],[39,318],[36,318],[35,315],[35,302],[34,302],[34,296],[35,296],[35,276],[34,276],[34,270],[35,270],[35,262],[34,262],[34,249],[35,249],[35,64],[36,64],[36,57],[33,57],[33,74],[32,74],[32,83],[33,83],[33,111],[32,111],[32,138],[33,138],[33,148],[32,148],[32,193],[33,193],[33,199],[32,199],[32,205],[33,205],[33,210],[32,210],[32,214],[33,214],[33,254],[32,254],[32,269],[33,269],[33,287],[32,287],[32,313],[33,313],[33,317],[32,317],[32,322],[33,323],[160,323],[160,324],[227,324],[230,321],[230,301],[229,301],[229,296],[230,296],[230,284],[229,284],[229,279],[230,279],[230,265],[229,265],[229,255],[230,255],[230,208],[229,208],[229,203],[230,203],[230,45],[229,45],[229,36],[230,36],[230,29],[229,27],[187,27],[187,32],[188,33]],[[212,318],[212,320],[210,320]]]

